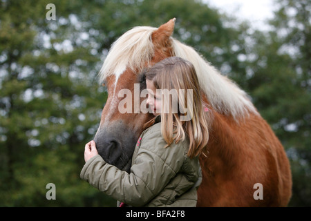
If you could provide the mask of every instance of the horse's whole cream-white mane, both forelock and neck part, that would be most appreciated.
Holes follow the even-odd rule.
[[[100,70],[100,81],[110,75],[115,75],[115,82],[126,68],[131,68],[139,74],[142,69],[149,66],[154,55],[152,32],[157,28],[138,26],[125,32],[111,46],[104,64]],[[234,119],[248,115],[258,114],[256,108],[249,100],[245,91],[241,90],[233,81],[221,75],[214,66],[211,66],[201,55],[180,41],[171,38],[173,54],[187,59],[196,69],[200,87],[205,93],[209,104],[218,113],[232,115]]]

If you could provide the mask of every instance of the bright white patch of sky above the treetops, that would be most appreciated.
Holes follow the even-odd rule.
[[[274,0],[203,0],[220,12],[250,21],[256,29],[266,29],[267,19],[272,19]]]

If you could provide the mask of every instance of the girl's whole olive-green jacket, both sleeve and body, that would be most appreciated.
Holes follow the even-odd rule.
[[[82,180],[130,206],[196,206],[202,180],[198,157],[187,156],[188,139],[164,148],[160,117],[156,119],[138,139],[131,173],[96,155],[84,164]]]

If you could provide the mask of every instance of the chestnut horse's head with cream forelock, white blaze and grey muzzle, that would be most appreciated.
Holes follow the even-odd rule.
[[[140,110],[140,105],[147,99],[140,97],[140,92],[146,88],[141,72],[172,56],[171,35],[175,20],[171,19],[159,28],[135,27],[125,32],[111,46],[100,70],[100,80],[109,96],[94,140],[102,158],[124,171],[131,167],[135,143],[144,123],[153,117]],[[126,97],[124,91],[129,92]],[[124,99],[127,101],[125,112],[120,111],[124,108]]]

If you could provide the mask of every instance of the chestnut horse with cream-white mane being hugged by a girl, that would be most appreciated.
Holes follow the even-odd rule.
[[[130,172],[135,144],[153,115],[133,107],[120,113],[120,90],[141,91],[146,68],[167,57],[182,57],[196,69],[209,115],[209,142],[199,157],[202,183],[197,206],[287,206],[292,175],[281,142],[244,90],[194,48],[172,37],[175,21],[159,28],[131,28],[111,45],[98,74],[109,94],[94,137],[99,154]],[[129,99],[138,105],[144,101]]]

